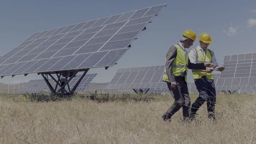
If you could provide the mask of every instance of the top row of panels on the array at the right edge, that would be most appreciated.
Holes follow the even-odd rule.
[[[256,59],[256,53],[249,54],[234,54],[224,56],[224,62],[233,61],[233,60],[251,60]]]

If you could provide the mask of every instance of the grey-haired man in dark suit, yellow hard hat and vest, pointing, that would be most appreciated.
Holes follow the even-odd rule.
[[[213,65],[210,62],[201,64],[190,62],[186,48],[190,48],[195,40],[196,33],[192,30],[186,30],[183,32],[180,42],[171,46],[166,54],[163,81],[167,82],[174,103],[162,116],[164,121],[170,119],[181,107],[184,119],[189,118],[191,102],[186,83],[188,68],[206,69],[206,66]]]

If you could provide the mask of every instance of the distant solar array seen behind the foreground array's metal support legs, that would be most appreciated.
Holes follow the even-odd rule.
[[[88,86],[88,84],[90,84],[90,82],[92,81],[92,79],[96,76],[97,74],[86,74],[84,76],[84,78],[82,79],[82,81],[80,82],[80,84],[78,85],[78,87],[76,88],[77,92],[82,92],[86,89],[86,87]],[[74,77],[72,80],[70,80],[69,85],[70,85],[70,89],[72,89],[74,87],[74,85],[76,84],[76,82],[79,80],[79,78],[82,75],[76,75],[76,77]],[[52,86],[54,86],[54,84],[56,84],[54,82],[54,80],[50,79],[49,80],[50,84],[52,84]],[[58,88],[60,88],[58,86]],[[66,86],[65,89],[68,91],[68,87]],[[17,94],[25,94],[25,93],[41,93],[43,91],[48,91],[50,92],[48,86],[46,85],[45,81],[42,80],[30,80],[25,86],[23,86],[20,90],[18,90],[18,92],[16,92]]]

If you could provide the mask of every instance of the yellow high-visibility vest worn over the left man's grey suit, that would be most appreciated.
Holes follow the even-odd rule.
[[[186,51],[186,58],[184,56],[183,50],[180,48],[179,45],[174,45],[177,49],[177,56],[172,63],[172,72],[174,76],[184,76],[185,81],[187,82],[187,73],[188,73],[188,52]],[[165,57],[165,62],[167,59],[168,52]],[[166,67],[164,67],[164,76],[163,81],[169,81],[168,76],[166,74]]]

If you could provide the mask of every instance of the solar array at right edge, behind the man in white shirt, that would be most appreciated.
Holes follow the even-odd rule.
[[[256,53],[224,56],[216,90],[256,90]]]

